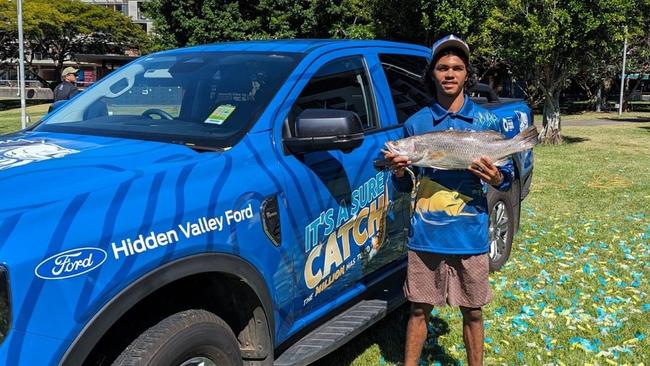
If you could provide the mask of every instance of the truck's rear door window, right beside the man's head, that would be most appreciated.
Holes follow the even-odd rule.
[[[393,96],[397,121],[404,123],[431,102],[431,93],[422,76],[429,61],[425,57],[380,54],[379,60]]]

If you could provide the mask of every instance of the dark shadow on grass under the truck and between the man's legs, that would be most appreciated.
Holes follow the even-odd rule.
[[[372,360],[371,365],[402,364],[404,362],[404,341],[410,305],[407,303],[377,324],[312,366],[348,366],[366,350],[376,345],[380,359]],[[460,325],[459,325],[460,326]],[[449,333],[449,324],[441,318],[429,319],[429,336],[422,351],[422,359],[428,364],[438,361],[441,365],[458,365],[459,362],[438,345],[438,338]],[[363,364],[368,364],[367,361]]]

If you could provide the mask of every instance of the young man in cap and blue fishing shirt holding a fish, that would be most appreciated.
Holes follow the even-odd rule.
[[[404,123],[406,135],[431,131],[494,130],[496,116],[465,94],[471,80],[469,46],[449,35],[432,46],[424,75],[432,102]],[[410,192],[413,182],[405,168],[409,161],[390,152],[385,158],[398,190]],[[495,166],[487,157],[467,170],[415,169],[419,179],[416,208],[408,241],[408,269],[404,293],[411,302],[406,330],[404,364],[419,364],[433,306],[458,306],[463,316],[463,341],[470,366],[483,363],[481,308],[492,298],[488,282],[489,239],[487,185],[507,190],[514,178],[512,162]],[[445,210],[449,206],[459,210]]]

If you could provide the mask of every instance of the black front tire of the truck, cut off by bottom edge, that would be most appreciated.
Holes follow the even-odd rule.
[[[242,364],[239,343],[228,324],[205,310],[163,319],[134,340],[113,366],[189,366],[192,359],[219,366]]]

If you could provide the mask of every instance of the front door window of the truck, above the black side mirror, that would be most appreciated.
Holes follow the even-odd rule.
[[[291,108],[292,117],[308,108],[356,112],[364,130],[376,128],[375,100],[363,59],[347,57],[323,65]]]

